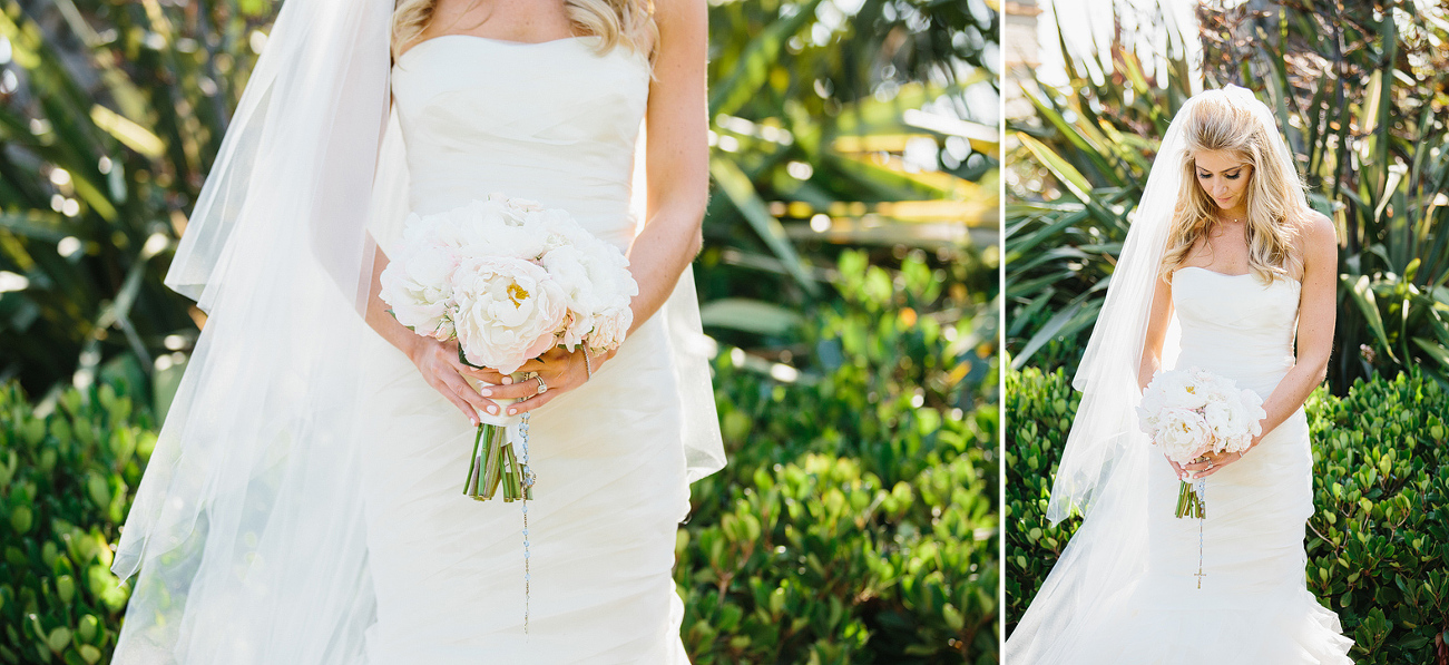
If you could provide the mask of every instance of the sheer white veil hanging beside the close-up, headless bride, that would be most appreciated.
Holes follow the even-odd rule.
[[[112,565],[139,571],[116,664],[362,659],[367,385],[348,359],[377,342],[361,316],[371,259],[407,206],[391,12],[283,4],[190,217],[167,285],[209,319]],[[688,272],[655,316],[693,481],[724,453]]]

